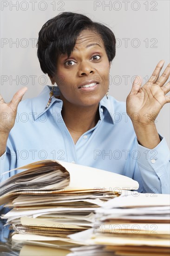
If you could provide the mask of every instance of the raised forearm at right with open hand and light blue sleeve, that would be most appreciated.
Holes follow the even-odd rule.
[[[159,77],[164,61],[157,64],[149,81],[141,87],[141,79],[135,79],[126,100],[127,114],[131,118],[137,136],[140,158],[137,160],[143,185],[147,192],[170,193],[169,149],[163,137],[157,133],[155,119],[164,104],[170,102],[170,65]],[[165,84],[165,85],[164,85]],[[155,159],[153,155],[155,154]],[[148,192],[149,192],[148,191]]]

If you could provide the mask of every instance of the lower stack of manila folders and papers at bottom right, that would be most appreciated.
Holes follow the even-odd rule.
[[[104,246],[107,256],[170,256],[170,195],[128,191],[105,202],[96,209],[94,228],[79,233],[81,240]],[[73,250],[81,256],[80,248]],[[98,255],[97,248],[91,255]]]

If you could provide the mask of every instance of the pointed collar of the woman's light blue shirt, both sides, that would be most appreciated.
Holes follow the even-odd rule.
[[[58,102],[58,107],[62,109],[63,101],[60,99],[55,98],[54,96],[60,95],[60,90],[58,86],[55,86],[53,91],[54,96],[52,96],[52,101],[48,108],[46,108],[46,104],[50,98],[50,91],[52,89],[52,86],[47,85],[42,90],[42,92],[35,98],[32,99],[32,109],[34,114],[34,120],[36,120],[40,115],[44,114],[48,109],[52,107],[54,102]],[[99,114],[100,119],[103,119],[105,122],[109,122],[114,124],[113,121],[113,114],[114,114],[114,105],[113,101],[110,99],[111,96],[108,96],[108,99],[106,96],[99,102]],[[46,108],[46,109],[45,109]]]

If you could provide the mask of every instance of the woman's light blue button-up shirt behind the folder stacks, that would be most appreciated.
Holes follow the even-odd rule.
[[[161,142],[154,149],[139,145],[125,102],[104,97],[99,102],[100,120],[74,144],[62,119],[63,102],[52,96],[45,109],[50,90],[51,86],[46,86],[37,97],[20,102],[7,150],[1,156],[2,173],[30,162],[56,159],[131,177],[142,193],[170,193],[170,156],[165,138],[159,135]],[[55,90],[59,95],[59,88]],[[20,170],[10,175],[17,172]],[[2,180],[7,177],[1,175]]]

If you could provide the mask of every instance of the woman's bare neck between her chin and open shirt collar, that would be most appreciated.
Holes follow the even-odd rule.
[[[70,132],[79,135],[95,127],[99,120],[98,104],[90,107],[79,107],[63,101],[62,117]]]

